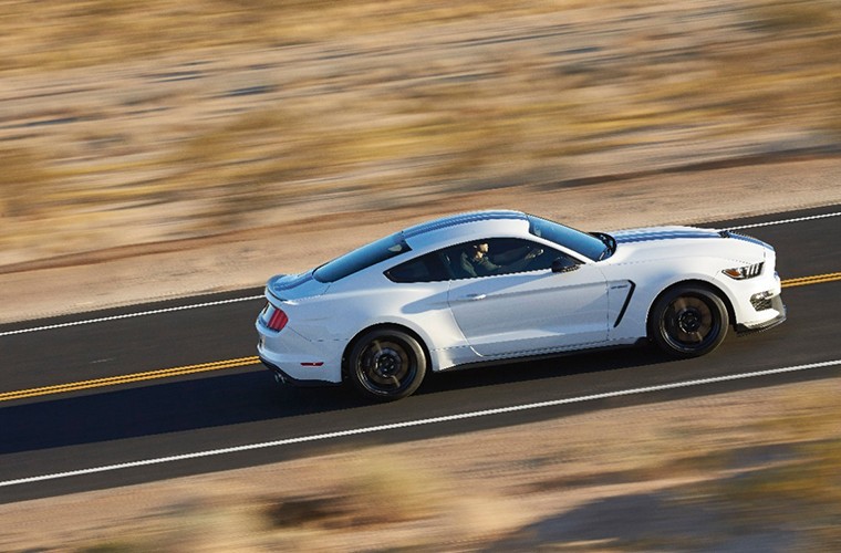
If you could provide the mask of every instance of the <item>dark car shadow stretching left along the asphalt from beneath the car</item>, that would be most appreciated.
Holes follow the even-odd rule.
[[[279,387],[268,371],[258,368],[208,375],[0,407],[0,455],[261,421],[276,422],[281,435],[300,432],[304,428],[300,417],[333,411],[353,411],[357,424],[382,422],[403,419],[411,411],[428,413],[430,403],[436,409],[446,407],[445,393],[665,361],[652,348],[638,348],[430,374],[416,397],[388,404],[372,404],[344,387]],[[320,431],[331,424],[322,417],[310,422]]]

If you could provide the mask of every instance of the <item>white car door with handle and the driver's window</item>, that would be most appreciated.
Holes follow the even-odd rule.
[[[481,265],[450,281],[447,301],[470,346],[481,356],[509,356],[595,345],[608,338],[608,288],[594,263],[552,272],[552,261],[568,258],[522,239],[489,239],[488,257],[500,269],[481,274]],[[473,248],[473,249],[470,249]],[[463,244],[465,257],[478,248]],[[501,250],[501,251],[500,251]],[[540,254],[523,262],[518,252]],[[496,257],[495,257],[496,255]],[[455,272],[458,272],[456,267]],[[469,268],[467,268],[469,269]],[[474,275],[475,274],[475,275]]]

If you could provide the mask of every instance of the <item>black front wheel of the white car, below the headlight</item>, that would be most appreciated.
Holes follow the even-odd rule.
[[[677,286],[654,303],[648,333],[657,346],[675,357],[697,357],[718,347],[729,317],[721,299],[700,286]]]

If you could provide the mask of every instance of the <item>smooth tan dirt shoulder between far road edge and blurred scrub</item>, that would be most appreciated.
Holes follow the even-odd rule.
[[[325,215],[293,227],[56,259],[0,274],[0,323],[259,286],[411,223],[471,209],[520,209],[581,229],[615,230],[841,204],[834,157],[605,180],[466,192],[420,208]]]

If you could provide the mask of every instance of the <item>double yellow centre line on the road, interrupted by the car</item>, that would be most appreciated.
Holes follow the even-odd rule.
[[[802,276],[800,279],[789,279],[782,281],[782,288],[806,286],[809,284],[822,284],[841,280],[841,272],[816,274],[813,276]],[[224,368],[245,367],[260,363],[257,356],[239,357],[236,359],[216,361],[212,363],[200,363],[198,365],[186,365],[181,367],[162,368],[158,371],[147,371],[145,373],[134,373],[123,376],[110,376],[107,378],[95,378],[92,380],[81,380],[69,384],[56,384],[54,386],[43,386],[40,388],[21,389],[18,392],[0,393],[0,401],[11,401],[12,399],[23,399],[28,397],[45,396],[49,394],[63,394],[65,392],[76,392],[80,389],[100,388],[103,386],[116,386],[118,384],[129,384],[143,380],[153,380],[155,378],[170,378],[173,376],[184,376],[195,373],[207,373],[210,371],[221,371]]]

